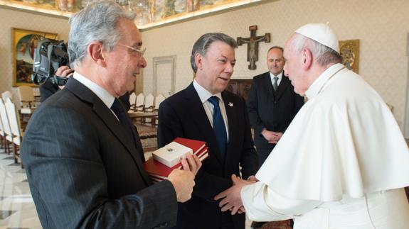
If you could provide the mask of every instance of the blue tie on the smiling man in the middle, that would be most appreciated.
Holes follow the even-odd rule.
[[[208,101],[213,104],[213,132],[216,136],[218,149],[224,157],[225,149],[227,147],[227,133],[225,132],[223,116],[221,115],[220,107],[218,106],[218,97],[211,96]]]

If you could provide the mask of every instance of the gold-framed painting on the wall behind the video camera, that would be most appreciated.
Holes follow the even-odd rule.
[[[36,86],[31,81],[33,73],[34,50],[38,40],[42,38],[57,39],[56,33],[46,33],[33,30],[12,28],[13,40],[13,86]]]

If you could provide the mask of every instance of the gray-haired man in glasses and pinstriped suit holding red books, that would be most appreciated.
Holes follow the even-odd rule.
[[[21,145],[43,228],[166,228],[176,225],[177,201],[190,199],[201,162],[188,155],[184,170],[151,185],[117,99],[146,66],[133,20],[112,1],[70,18],[75,73],[33,114]]]

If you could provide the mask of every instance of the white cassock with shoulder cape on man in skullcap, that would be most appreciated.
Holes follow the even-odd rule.
[[[409,228],[409,150],[391,111],[344,65],[332,65],[256,177],[241,191],[251,220],[294,228]]]

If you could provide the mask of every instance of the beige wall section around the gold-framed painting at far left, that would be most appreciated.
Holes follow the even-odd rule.
[[[67,40],[70,26],[68,18],[55,18],[11,9],[0,8],[0,15],[0,93],[11,90],[16,98],[16,90],[12,88],[11,28],[58,33],[60,40]]]

